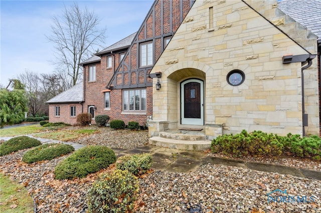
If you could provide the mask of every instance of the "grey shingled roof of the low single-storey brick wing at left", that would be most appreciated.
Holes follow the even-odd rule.
[[[84,101],[83,83],[80,82],[50,100],[47,100],[46,103],[74,103],[82,101]]]

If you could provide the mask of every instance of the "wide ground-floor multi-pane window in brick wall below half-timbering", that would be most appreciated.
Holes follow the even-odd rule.
[[[146,110],[146,89],[123,90],[124,111],[145,111]]]

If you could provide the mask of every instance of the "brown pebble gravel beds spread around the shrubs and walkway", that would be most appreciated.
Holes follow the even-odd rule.
[[[147,131],[99,129],[75,142],[133,148],[148,141]],[[82,179],[55,180],[54,167],[66,156],[27,164],[22,161],[26,151],[0,157],[0,172],[25,184],[35,197],[37,212],[85,212],[86,192],[108,169]],[[321,162],[286,155],[255,159],[321,170]],[[153,170],[139,182],[137,212],[321,212],[321,181],[291,175],[204,164],[189,173]]]

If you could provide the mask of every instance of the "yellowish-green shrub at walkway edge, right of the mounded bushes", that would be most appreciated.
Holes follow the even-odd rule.
[[[152,157],[148,153],[121,156],[116,162],[117,169],[128,170],[134,175],[145,173],[152,165]]]

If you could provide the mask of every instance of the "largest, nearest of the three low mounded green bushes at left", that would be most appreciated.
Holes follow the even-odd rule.
[[[85,177],[116,161],[115,152],[106,146],[90,145],[76,150],[55,167],[56,179]]]

